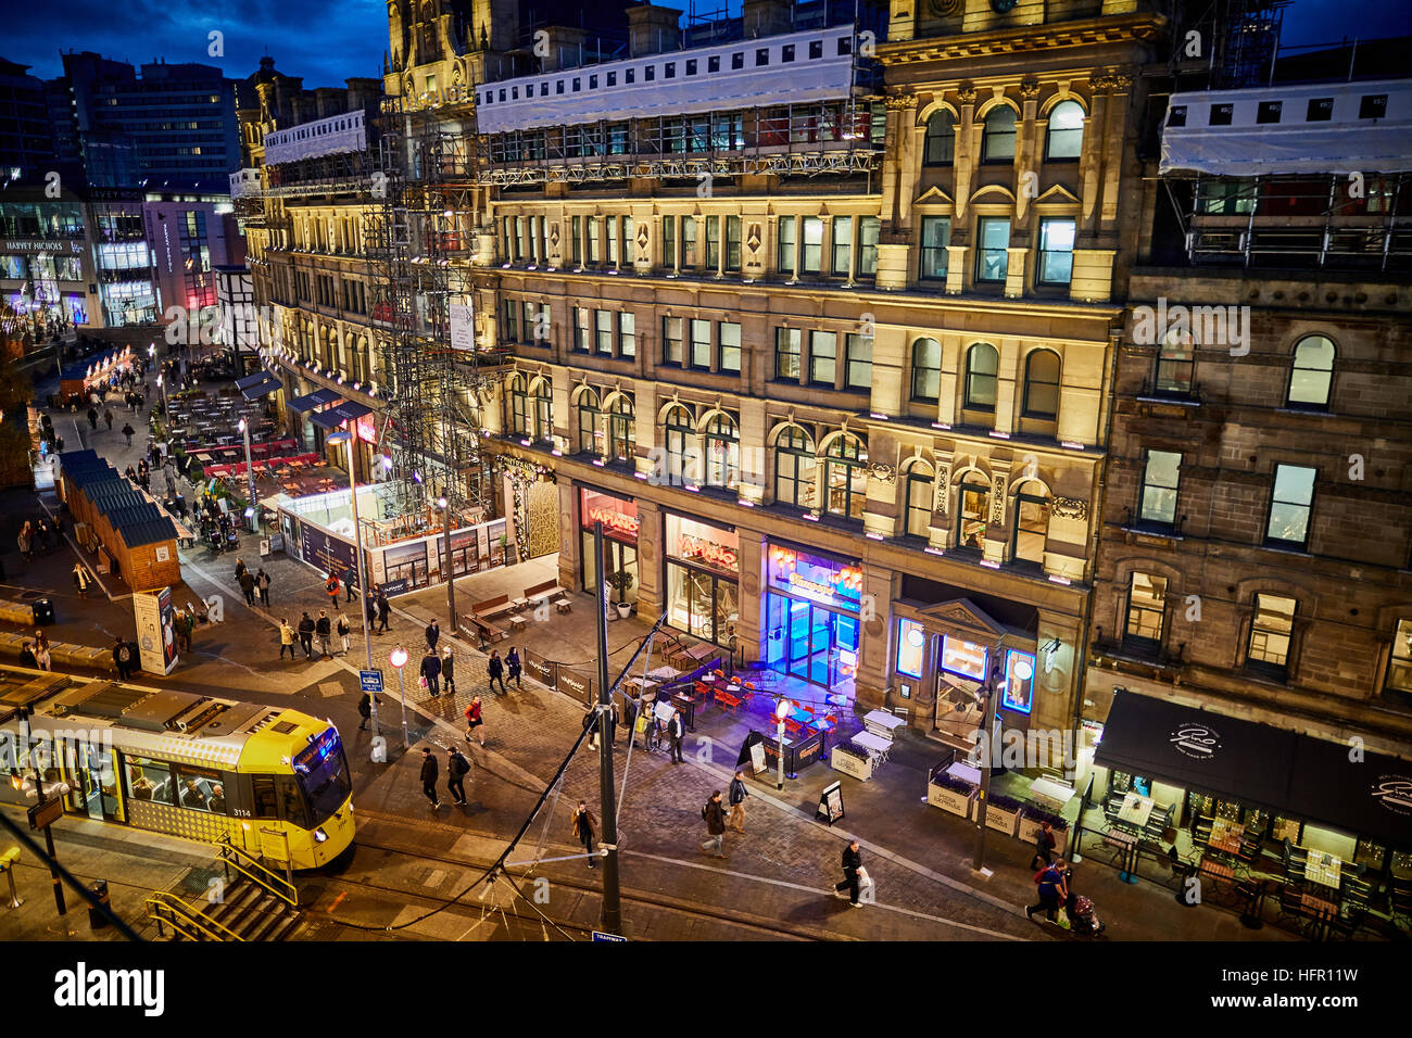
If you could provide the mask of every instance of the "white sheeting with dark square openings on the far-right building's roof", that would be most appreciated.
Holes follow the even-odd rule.
[[[1377,97],[1387,99],[1385,114]],[[1370,99],[1370,100],[1365,100]],[[1271,103],[1279,103],[1278,121]],[[1329,110],[1332,102],[1332,112]],[[1230,105],[1230,126],[1211,126]],[[1265,119],[1260,121],[1262,105]],[[1185,126],[1180,121],[1185,110]],[[1310,114],[1324,114],[1313,119]],[[1162,129],[1165,177],[1405,172],[1412,169],[1412,80],[1275,85],[1245,90],[1173,93]]]

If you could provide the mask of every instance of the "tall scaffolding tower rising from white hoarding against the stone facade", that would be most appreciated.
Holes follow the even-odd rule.
[[[384,99],[364,249],[380,381],[390,393],[384,441],[395,507],[426,517],[445,497],[474,523],[491,513],[479,411],[496,373],[477,364],[474,342],[452,345],[452,305],[472,299],[477,210],[476,137],[455,116],[450,107],[408,110],[402,97]]]

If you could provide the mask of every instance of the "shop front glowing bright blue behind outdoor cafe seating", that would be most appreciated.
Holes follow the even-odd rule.
[[[858,667],[863,568],[857,559],[771,544],[765,665],[851,695]]]

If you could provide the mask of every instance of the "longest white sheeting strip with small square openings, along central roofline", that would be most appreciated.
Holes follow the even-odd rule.
[[[840,44],[840,40],[844,42]],[[810,42],[823,44],[820,56],[809,56]],[[486,83],[477,88],[477,130],[505,133],[599,120],[840,100],[849,96],[853,85],[854,42],[853,27],[843,25]],[[784,61],[786,47],[794,48],[794,61]],[[762,49],[768,49],[770,61],[757,65],[755,52]],[[743,55],[743,68],[731,68],[736,54]],[[719,72],[707,71],[710,58],[720,58]],[[688,61],[696,62],[696,75],[686,75]],[[668,62],[675,65],[676,75],[671,79],[666,78]],[[654,68],[651,80],[647,79],[648,66]],[[631,83],[627,82],[630,69]],[[610,73],[616,79],[613,86],[607,85]],[[597,78],[593,89],[589,88],[589,76]],[[579,80],[579,92],[573,90],[575,79]],[[563,93],[558,92],[561,82]]]

